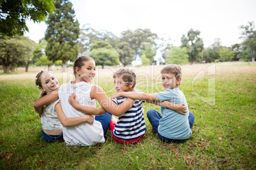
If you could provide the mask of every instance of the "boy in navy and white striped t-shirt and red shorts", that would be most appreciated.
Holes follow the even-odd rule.
[[[134,90],[134,86],[136,85],[136,74],[131,69],[117,70],[117,72],[115,72],[113,75],[113,79],[117,92],[131,92]],[[113,101],[117,105],[120,105],[126,99],[127,98],[125,97],[120,97],[113,99]],[[144,102],[145,101],[142,100],[135,100],[133,105],[131,105],[131,108],[129,108],[129,110],[127,110],[127,112],[124,114],[111,113],[118,117],[118,121],[117,119],[113,118],[110,122],[110,131],[115,141],[119,143],[131,143],[133,141],[140,141],[143,138],[146,132],[146,124],[142,108]],[[167,106],[168,102],[169,101],[164,101],[162,105]],[[87,114],[98,115],[106,112],[103,110],[103,108],[100,108],[97,113],[95,110],[94,112],[90,112],[88,107],[83,107],[76,102],[76,97],[74,95],[71,95],[69,98],[69,103],[77,110]],[[169,105],[171,106],[170,103]],[[183,107],[181,106],[180,109],[183,110]],[[91,110],[93,109],[91,108]]]

